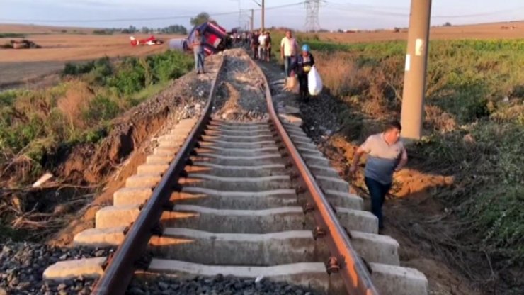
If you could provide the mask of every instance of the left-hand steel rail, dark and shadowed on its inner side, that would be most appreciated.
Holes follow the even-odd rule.
[[[108,265],[93,287],[91,294],[117,295],[125,293],[127,285],[131,282],[132,275],[135,272],[137,260],[144,255],[152,230],[159,225],[163,208],[166,204],[169,204],[169,197],[173,187],[178,182],[190,153],[198,143],[198,138],[210,121],[212,105],[214,104],[217,90],[217,79],[223,65],[224,58],[220,62],[217,77],[212,82],[207,104],[198,119],[198,123],[191,130],[181,149],[178,150],[175,159],[169,165],[159,184],[154,188],[151,198],[144,204],[137,220],[127,231],[123,243],[117,248],[113,257],[110,257],[108,260]]]

